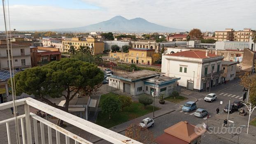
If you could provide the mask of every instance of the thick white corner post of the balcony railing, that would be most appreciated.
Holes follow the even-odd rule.
[[[27,132],[27,144],[32,144],[32,134],[31,134],[31,122],[30,122],[30,110],[29,105],[25,104],[25,118],[26,118],[26,132]]]

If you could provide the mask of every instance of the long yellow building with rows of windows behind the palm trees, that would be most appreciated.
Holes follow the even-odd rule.
[[[62,43],[64,52],[68,52],[70,46],[74,46],[76,50],[80,46],[89,46],[93,55],[103,53],[104,51],[104,42],[97,41],[97,38],[94,37],[72,37],[72,39],[63,39]]]

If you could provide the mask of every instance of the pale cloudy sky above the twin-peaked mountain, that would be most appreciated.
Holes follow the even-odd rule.
[[[256,29],[256,0],[9,0],[9,11],[16,30],[74,28],[117,15],[186,30]]]

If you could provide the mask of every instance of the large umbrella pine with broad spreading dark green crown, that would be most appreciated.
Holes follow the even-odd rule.
[[[86,86],[93,88],[102,82],[103,72],[90,63],[73,58],[62,58],[42,67],[33,67],[14,76],[16,92],[35,95],[48,105],[68,111],[70,100]],[[10,81],[9,81],[10,83]],[[65,93],[63,93],[65,91]],[[65,98],[64,107],[45,98]],[[58,123],[61,125],[61,123]]]

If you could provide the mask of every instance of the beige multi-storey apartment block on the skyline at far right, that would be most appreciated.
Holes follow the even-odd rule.
[[[244,30],[235,31],[233,28],[226,28],[225,31],[215,31],[216,41],[238,41],[238,42],[249,42],[250,36],[256,34],[255,30],[251,28],[244,28]]]

